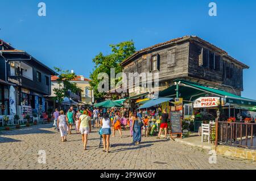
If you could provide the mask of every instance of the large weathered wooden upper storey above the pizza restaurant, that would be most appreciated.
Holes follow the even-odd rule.
[[[243,69],[249,68],[225,50],[197,36],[184,36],[144,48],[121,65],[124,73],[158,72],[159,91],[172,86],[174,79],[181,78],[235,95],[241,95]]]

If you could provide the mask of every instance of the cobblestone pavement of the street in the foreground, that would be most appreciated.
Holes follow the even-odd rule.
[[[125,131],[124,138],[118,134],[111,137],[108,154],[98,148],[96,129],[89,135],[88,150],[82,149],[79,134],[68,135],[68,141],[61,142],[52,124],[3,131],[0,169],[256,169],[256,162],[221,155],[217,156],[217,164],[210,164],[209,150],[172,140],[142,137],[142,144],[135,146],[128,135]],[[46,164],[38,163],[39,150],[46,151]]]

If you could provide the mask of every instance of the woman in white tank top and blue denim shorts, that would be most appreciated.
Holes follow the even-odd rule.
[[[106,151],[107,153],[109,153],[109,137],[111,134],[111,121],[109,119],[109,114],[108,113],[104,113],[102,120],[101,120],[101,133],[102,133],[102,137],[103,137],[103,145],[104,145],[104,149],[103,151]]]

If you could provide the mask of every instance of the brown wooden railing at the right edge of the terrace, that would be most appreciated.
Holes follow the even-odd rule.
[[[256,123],[218,121],[217,144],[256,148]]]

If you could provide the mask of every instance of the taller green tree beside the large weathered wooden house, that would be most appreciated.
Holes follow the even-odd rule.
[[[109,46],[112,48],[112,53],[104,55],[100,52],[96,57],[93,58],[95,65],[93,72],[90,73],[90,79],[92,79],[90,86],[94,91],[94,97],[96,99],[101,99],[106,94],[105,92],[98,92],[98,83],[101,81],[97,79],[98,74],[107,73],[110,77],[111,68],[115,68],[115,74],[122,72],[122,66],[120,66],[120,63],[136,51],[133,40],[123,41],[121,43],[111,44]]]

